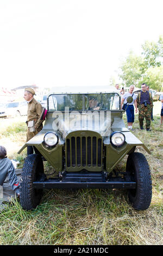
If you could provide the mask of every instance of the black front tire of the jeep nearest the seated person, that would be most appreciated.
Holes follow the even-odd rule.
[[[20,185],[20,204],[24,210],[31,210],[39,205],[43,190],[36,190],[33,182],[43,173],[43,162],[40,155],[32,154],[26,157],[22,168]]]

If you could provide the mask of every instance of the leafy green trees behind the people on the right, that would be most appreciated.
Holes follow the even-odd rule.
[[[130,51],[128,56],[121,62],[118,76],[121,78],[122,86],[129,87],[134,84],[141,88],[146,83],[150,88],[163,91],[163,35],[159,36],[157,42],[145,41],[141,45],[141,56]],[[110,78],[110,83],[114,83]]]

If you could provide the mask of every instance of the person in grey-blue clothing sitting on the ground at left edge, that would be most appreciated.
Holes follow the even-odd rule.
[[[14,165],[12,161],[7,157],[7,150],[0,146],[0,185],[3,186],[5,179],[9,178],[9,183],[12,188],[16,192],[16,194],[20,195],[20,184],[18,182]]]

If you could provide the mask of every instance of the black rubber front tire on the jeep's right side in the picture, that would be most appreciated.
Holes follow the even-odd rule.
[[[130,203],[136,210],[148,209],[152,199],[152,180],[146,157],[141,153],[131,153],[126,171],[131,181],[136,181],[136,188],[128,191]]]

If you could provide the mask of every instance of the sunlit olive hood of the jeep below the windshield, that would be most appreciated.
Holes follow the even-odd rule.
[[[46,125],[43,129],[46,129]],[[64,139],[72,131],[95,131],[102,137],[110,136],[112,131],[129,131],[124,124],[121,113],[111,113],[110,111],[71,112],[65,114],[64,117],[55,113],[52,129],[60,133]]]

